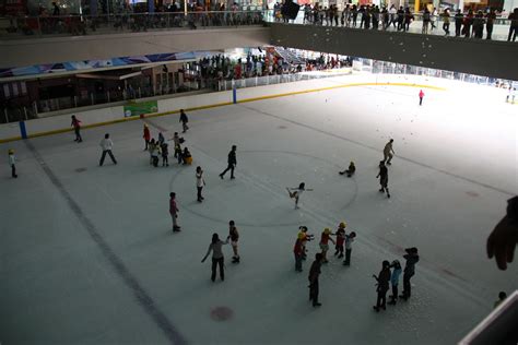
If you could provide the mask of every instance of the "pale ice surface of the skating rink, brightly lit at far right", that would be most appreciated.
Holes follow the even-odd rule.
[[[445,90],[425,88],[422,107],[419,87],[385,85],[188,111],[184,138],[195,163],[187,167],[172,154],[169,167],[149,165],[141,120],[84,130],[81,144],[72,132],[2,144],[0,342],[458,342],[492,310],[498,292],[518,286],[517,262],[502,272],[485,255],[487,235],[518,193],[518,106],[494,87],[420,83]],[[145,121],[154,138],[180,129],[178,115]],[[108,158],[98,167],[106,132],[119,164]],[[376,175],[390,138],[388,200]],[[236,179],[221,180],[233,144]],[[10,147],[16,180],[7,164]],[[348,179],[338,171],[350,160],[357,170]],[[201,204],[198,165],[207,181]],[[302,181],[314,191],[294,210],[285,188]],[[170,191],[179,234],[170,230]],[[212,283],[210,259],[200,261],[212,233],[226,238],[229,219],[240,233],[242,261],[231,263],[225,246],[225,282]],[[335,230],[341,221],[357,233],[352,265],[330,250],[322,307],[314,309],[309,265],[322,229]],[[317,238],[303,273],[293,258],[299,225]],[[421,255],[412,298],[376,313],[372,274],[382,260],[403,262],[407,247]]]

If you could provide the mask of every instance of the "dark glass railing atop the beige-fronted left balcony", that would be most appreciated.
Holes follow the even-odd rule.
[[[148,31],[236,27],[263,23],[263,11],[160,12],[0,17],[1,38],[80,36]]]

